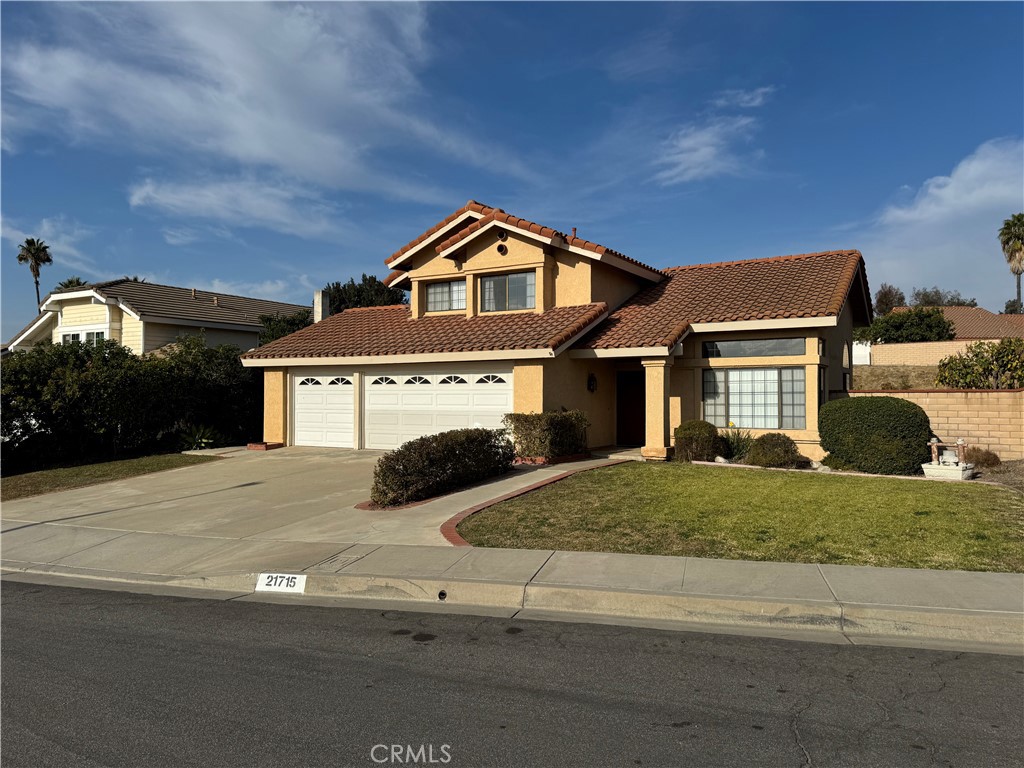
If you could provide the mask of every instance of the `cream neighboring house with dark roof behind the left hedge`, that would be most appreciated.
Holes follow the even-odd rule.
[[[49,294],[40,314],[7,345],[28,349],[41,341],[94,342],[113,339],[143,354],[179,336],[205,333],[207,344],[259,344],[261,314],[292,314],[299,304],[249,299],[195,288],[116,280]]]

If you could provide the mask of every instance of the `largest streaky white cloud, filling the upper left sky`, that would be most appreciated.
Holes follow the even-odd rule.
[[[4,117],[15,129],[8,146],[17,134],[58,131],[170,163],[200,156],[211,172],[241,168],[429,202],[445,196],[385,171],[387,150],[530,176],[493,141],[466,135],[455,117],[429,117],[419,79],[431,55],[424,5],[126,3],[47,12],[45,42],[4,45]]]

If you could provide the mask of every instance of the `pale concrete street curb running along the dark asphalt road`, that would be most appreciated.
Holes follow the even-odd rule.
[[[1024,613],[993,610],[844,604],[825,600],[699,595],[606,589],[522,581],[479,581],[431,577],[394,577],[306,571],[301,595],[255,592],[258,573],[164,577],[97,571],[53,565],[27,568],[4,565],[4,575],[31,581],[51,577],[81,586],[128,585],[156,591],[194,591],[197,597],[230,594],[230,599],[301,604],[303,599],[337,600],[345,607],[391,610],[442,609],[495,615],[505,611],[524,618],[658,626],[686,631],[729,632],[766,637],[803,635],[851,644],[959,648],[1024,655]],[[299,571],[301,572],[301,571]],[[225,599],[221,597],[221,599]],[[799,639],[799,638],[798,638]]]

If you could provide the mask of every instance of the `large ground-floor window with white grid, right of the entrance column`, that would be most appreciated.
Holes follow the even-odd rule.
[[[802,368],[705,369],[703,418],[716,427],[805,429]]]

